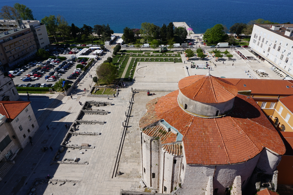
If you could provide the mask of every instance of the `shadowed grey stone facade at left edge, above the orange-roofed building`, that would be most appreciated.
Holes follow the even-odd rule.
[[[5,77],[0,70],[0,100],[1,101],[18,101],[19,94],[11,77]]]

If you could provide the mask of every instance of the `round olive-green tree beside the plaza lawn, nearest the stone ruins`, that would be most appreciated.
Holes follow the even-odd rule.
[[[116,78],[117,68],[112,63],[102,63],[96,69],[96,73],[100,80],[110,84]]]

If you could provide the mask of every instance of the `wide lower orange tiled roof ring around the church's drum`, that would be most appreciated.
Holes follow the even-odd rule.
[[[280,155],[285,153],[280,135],[252,98],[238,94],[233,111],[225,117],[199,118],[180,108],[178,93],[176,90],[152,101],[155,108],[146,115],[156,118],[152,121],[164,119],[183,135],[188,164],[240,163],[255,157],[264,147]]]

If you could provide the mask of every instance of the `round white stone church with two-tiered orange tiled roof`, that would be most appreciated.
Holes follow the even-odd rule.
[[[284,143],[235,83],[209,73],[189,76],[179,90],[147,103],[139,121],[147,187],[159,193],[176,187],[184,195],[224,195],[232,187],[239,195],[261,177],[258,188],[276,189]]]

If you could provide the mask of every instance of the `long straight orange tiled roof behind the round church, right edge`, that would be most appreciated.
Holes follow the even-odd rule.
[[[252,94],[293,95],[293,84],[291,80],[218,79],[225,82],[231,82],[237,87],[238,91],[251,90]],[[246,87],[244,87],[244,84]],[[287,88],[287,86],[289,86],[289,88]]]

